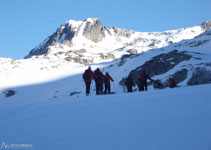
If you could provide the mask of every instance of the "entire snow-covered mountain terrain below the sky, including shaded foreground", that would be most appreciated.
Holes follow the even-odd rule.
[[[208,150],[210,58],[211,21],[147,33],[70,20],[25,59],[0,58],[0,148]],[[96,96],[92,82],[85,95],[88,65],[110,73],[116,94]],[[179,88],[124,93],[143,70]]]

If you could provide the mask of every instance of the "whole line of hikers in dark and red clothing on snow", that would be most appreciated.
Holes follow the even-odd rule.
[[[90,86],[92,79],[95,80],[95,86],[96,86],[96,95],[101,94],[110,94],[111,93],[111,85],[110,81],[114,82],[113,78],[109,75],[108,72],[104,75],[99,68],[97,68],[94,72],[91,70],[91,67],[89,66],[88,69],[85,70],[83,74],[83,80],[86,85],[86,95],[90,94]],[[147,80],[150,80],[153,82],[154,88],[162,89],[164,88],[164,85],[159,80],[153,80],[149,77],[149,75],[146,73],[145,70],[142,71],[139,78],[137,79],[137,86],[139,91],[147,91]],[[129,75],[124,83],[127,87],[127,92],[133,92],[133,87],[136,85],[134,82],[134,79],[131,75]],[[103,88],[104,85],[104,88]],[[169,79],[168,86],[170,88],[176,87],[176,82],[173,78]],[[103,90],[104,89],[104,90]]]

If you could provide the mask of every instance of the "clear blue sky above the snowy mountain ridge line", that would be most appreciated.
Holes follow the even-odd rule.
[[[65,21],[164,31],[211,20],[211,0],[1,0],[0,57],[21,59]]]

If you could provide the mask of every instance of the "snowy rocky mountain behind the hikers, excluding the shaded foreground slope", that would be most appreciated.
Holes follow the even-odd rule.
[[[142,70],[164,83],[174,77],[179,86],[204,84],[211,81],[210,48],[211,21],[147,33],[104,27],[96,18],[70,20],[31,50],[26,59],[0,58],[0,89],[35,88],[36,84],[45,89],[40,97],[53,97],[57,91],[68,95],[83,86],[81,74],[90,64],[93,70],[108,71],[118,92],[122,92],[128,74],[137,80]],[[48,83],[54,86],[46,88]],[[21,92],[25,91],[17,93]],[[37,96],[34,94],[29,98]]]

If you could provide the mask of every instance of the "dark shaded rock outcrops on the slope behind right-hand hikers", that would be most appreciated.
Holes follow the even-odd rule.
[[[192,54],[195,56],[192,56]],[[170,71],[183,61],[188,61],[191,58],[195,60],[201,59],[196,56],[202,55],[204,54],[187,51],[179,52],[177,50],[173,50],[169,53],[163,53],[153,57],[149,61],[146,61],[143,65],[132,70],[129,74],[132,76],[135,82],[140,77],[143,70],[145,70],[147,74],[153,78],[154,76]],[[163,84],[168,85],[169,78],[175,79],[176,83],[181,83],[187,79],[189,71],[189,73],[193,73],[191,77],[188,78],[187,85],[211,83],[211,63],[200,63],[197,64],[197,66],[198,67],[194,67],[192,64],[183,65],[183,67],[178,69],[175,73],[168,75],[168,77],[163,80]],[[124,81],[125,78],[119,82],[120,85],[124,85]],[[152,82],[149,82],[148,84],[151,85]]]

